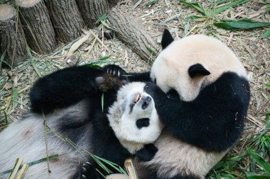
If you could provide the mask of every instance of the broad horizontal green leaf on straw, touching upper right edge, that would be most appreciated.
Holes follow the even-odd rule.
[[[257,21],[252,21],[248,18],[243,18],[237,21],[226,20],[222,23],[214,23],[217,28],[223,28],[225,30],[242,30],[249,28],[262,28],[269,26],[270,23],[261,23]]]

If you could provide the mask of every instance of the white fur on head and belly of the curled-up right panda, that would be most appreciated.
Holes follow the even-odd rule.
[[[193,64],[202,64],[210,71],[208,76],[188,75]],[[220,40],[205,35],[190,35],[173,41],[158,55],[151,69],[151,78],[167,92],[175,88],[185,101],[195,99],[201,88],[214,82],[223,73],[232,71],[247,78],[246,71],[237,56]],[[200,178],[205,175],[227,151],[207,152],[163,132],[154,143],[158,147],[156,156],[149,162],[137,165],[156,168],[158,175],[193,174]]]

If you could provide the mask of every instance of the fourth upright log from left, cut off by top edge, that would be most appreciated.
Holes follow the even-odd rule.
[[[107,0],[77,0],[77,6],[88,28],[95,26],[97,19],[109,11]]]

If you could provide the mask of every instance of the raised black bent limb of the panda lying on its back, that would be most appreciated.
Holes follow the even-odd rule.
[[[86,96],[97,96],[95,77],[101,69],[70,67],[38,79],[30,91],[31,110],[47,114],[75,104]]]

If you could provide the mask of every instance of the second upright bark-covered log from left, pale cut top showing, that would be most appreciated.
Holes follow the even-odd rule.
[[[43,0],[16,0],[29,47],[35,52],[50,53],[56,47],[55,32]]]

